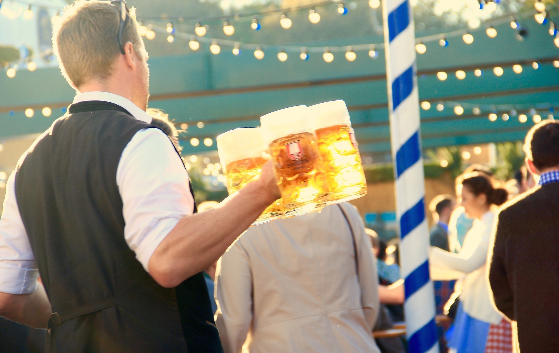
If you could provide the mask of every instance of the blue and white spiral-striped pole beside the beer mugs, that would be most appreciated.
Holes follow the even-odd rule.
[[[413,13],[408,0],[383,0],[382,6],[408,347],[410,353],[435,353],[439,345],[434,288],[429,277]]]

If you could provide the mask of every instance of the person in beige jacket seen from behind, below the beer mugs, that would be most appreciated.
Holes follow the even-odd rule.
[[[254,226],[221,257],[225,353],[378,353],[371,241],[349,203]]]

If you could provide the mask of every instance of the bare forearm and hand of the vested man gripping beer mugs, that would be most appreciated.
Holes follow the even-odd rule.
[[[249,183],[220,206],[184,217],[151,256],[151,276],[163,287],[176,287],[217,261],[275,201],[263,197],[263,188],[262,183]]]

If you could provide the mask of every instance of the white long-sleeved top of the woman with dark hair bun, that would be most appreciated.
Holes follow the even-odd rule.
[[[487,251],[495,213],[487,211],[464,238],[458,254],[431,247],[429,256],[433,280],[461,279],[464,311],[480,321],[497,324],[503,318],[491,305],[486,279]]]

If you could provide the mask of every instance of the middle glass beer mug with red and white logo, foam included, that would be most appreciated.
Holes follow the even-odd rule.
[[[320,211],[329,189],[307,107],[264,115],[260,126],[281,190],[284,216]]]

